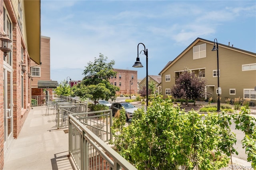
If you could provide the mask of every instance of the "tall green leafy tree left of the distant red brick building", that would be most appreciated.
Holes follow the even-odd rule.
[[[100,53],[99,58],[94,58],[94,62],[87,63],[84,69],[83,81],[80,82],[74,94],[82,99],[89,98],[93,101],[98,99],[114,100],[116,98],[116,91],[119,91],[119,87],[111,85],[108,81],[110,77],[116,76],[116,72],[113,71],[115,64],[114,60],[106,63],[108,57],[105,57]]]

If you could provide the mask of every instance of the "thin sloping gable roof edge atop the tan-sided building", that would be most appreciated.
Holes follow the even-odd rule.
[[[162,69],[162,71],[160,71],[160,73],[158,75],[161,75],[164,71],[166,71],[168,68],[170,68],[178,59],[180,59],[180,57],[182,57],[189,49],[191,49],[199,41],[210,43],[212,45],[214,44],[214,42],[212,42],[212,41],[205,40],[205,39],[202,39],[202,38],[196,38],[196,40],[194,40],[194,42],[192,42],[186,49],[184,49],[184,51],[182,51],[182,53],[180,53],[180,55],[178,55],[173,61],[169,61],[166,64],[166,66]],[[252,56],[256,57],[256,53],[253,53],[253,52],[250,52],[250,51],[235,48],[235,47],[232,47],[232,46],[229,46],[229,45],[224,45],[224,44],[221,44],[221,43],[218,43],[218,45],[220,47],[223,47],[223,48],[231,49],[233,51],[237,51],[237,52],[240,52],[240,53],[246,53],[248,55],[252,55]]]

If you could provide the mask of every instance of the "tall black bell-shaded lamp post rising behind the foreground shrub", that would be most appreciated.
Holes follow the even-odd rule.
[[[132,67],[136,67],[136,68],[140,68],[143,67],[143,65],[140,62],[140,57],[139,57],[139,45],[142,44],[144,46],[144,50],[142,50],[144,52],[144,54],[146,55],[146,108],[148,108],[148,49],[146,49],[145,45],[143,43],[138,43],[138,51],[137,51],[137,58],[136,58],[136,62],[134,63],[134,65]],[[141,53],[141,51],[140,51]]]

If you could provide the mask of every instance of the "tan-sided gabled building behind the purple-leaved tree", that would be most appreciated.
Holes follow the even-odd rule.
[[[185,69],[194,71],[206,79],[206,92],[217,101],[218,76],[217,53],[212,51],[214,42],[197,38],[178,57],[169,62],[159,73],[162,77],[162,94],[170,95],[169,89]],[[199,49],[199,50],[198,50]],[[221,102],[240,97],[256,103],[256,53],[218,43],[219,84]],[[243,69],[244,68],[244,69]]]

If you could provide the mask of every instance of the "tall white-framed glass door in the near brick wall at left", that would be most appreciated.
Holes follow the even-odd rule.
[[[4,153],[13,139],[12,70],[4,67]]]

